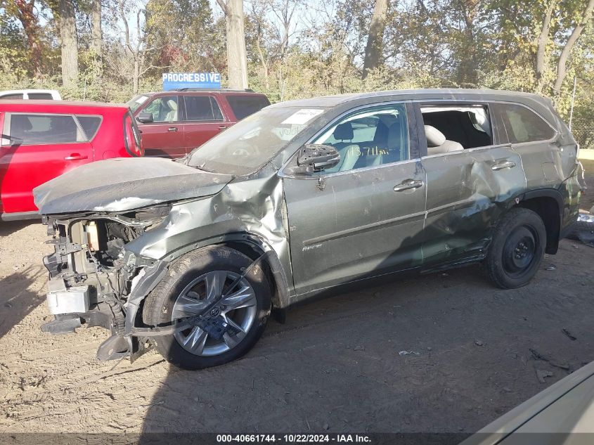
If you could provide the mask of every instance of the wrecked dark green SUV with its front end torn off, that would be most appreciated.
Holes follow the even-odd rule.
[[[529,283],[578,216],[578,147],[527,93],[416,90],[278,103],[181,160],[93,162],[34,191],[56,252],[43,330],[112,332],[226,363],[277,310],[378,276],[483,262]]]

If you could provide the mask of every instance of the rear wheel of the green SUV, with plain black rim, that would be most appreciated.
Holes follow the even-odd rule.
[[[546,228],[541,217],[529,209],[511,209],[493,233],[486,273],[502,289],[527,285],[538,271],[545,247]]]

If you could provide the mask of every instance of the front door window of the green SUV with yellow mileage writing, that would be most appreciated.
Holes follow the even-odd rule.
[[[408,160],[408,123],[403,104],[368,108],[332,124],[314,143],[333,146],[340,162],[326,173]]]

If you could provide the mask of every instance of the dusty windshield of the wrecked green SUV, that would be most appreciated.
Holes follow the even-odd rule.
[[[188,165],[208,172],[250,174],[323,112],[323,108],[264,108],[195,148]]]

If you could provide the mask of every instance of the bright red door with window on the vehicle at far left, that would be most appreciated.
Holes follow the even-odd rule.
[[[73,115],[6,113],[0,146],[4,212],[34,212],[33,188],[93,160]]]

